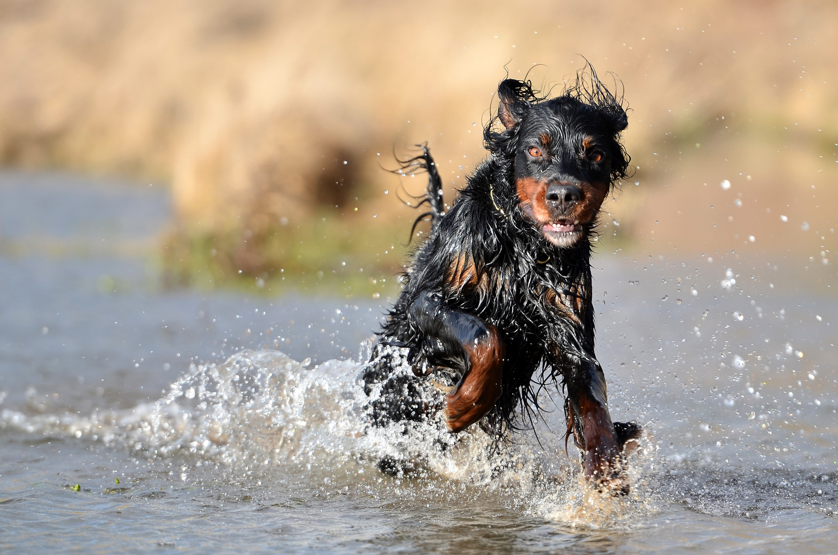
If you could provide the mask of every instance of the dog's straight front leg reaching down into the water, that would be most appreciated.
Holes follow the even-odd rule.
[[[581,360],[566,376],[566,385],[575,418],[582,424],[585,475],[597,481],[613,478],[619,472],[620,441],[608,413],[603,368]]]

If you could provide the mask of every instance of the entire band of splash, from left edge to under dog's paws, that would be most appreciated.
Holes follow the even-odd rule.
[[[6,410],[0,427],[104,443],[136,459],[176,459],[184,481],[199,466],[254,477],[302,469],[313,483],[344,480],[349,487],[380,476],[381,461],[394,460],[401,463],[397,479],[436,476],[432,480],[476,486],[574,526],[613,526],[633,503],[644,505],[637,492],[608,501],[613,495],[587,485],[565,453],[563,433],[551,432],[563,429],[561,411],[546,413],[537,432],[510,433],[500,450],[478,426],[456,435],[434,419],[375,428],[361,370],[352,360],[308,369],[280,351],[244,350],[220,364],[192,366],[157,402],[88,418]],[[550,400],[541,402],[548,406]],[[647,459],[631,464],[633,484],[642,482]]]

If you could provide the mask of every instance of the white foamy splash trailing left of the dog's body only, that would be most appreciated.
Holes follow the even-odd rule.
[[[157,402],[89,418],[6,410],[0,422],[23,433],[101,441],[147,459],[280,464],[323,431],[334,437],[362,431],[360,390],[347,387],[357,370],[341,360],[308,370],[280,351],[245,350],[221,364],[193,365]]]

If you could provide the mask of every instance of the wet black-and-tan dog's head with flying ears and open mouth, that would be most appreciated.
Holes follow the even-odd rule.
[[[525,81],[507,79],[498,88],[498,117],[506,130],[493,133],[499,148],[492,149],[513,160],[515,191],[526,219],[561,247],[582,239],[591,228],[586,224],[595,220],[613,183],[629,167],[620,143],[626,112],[588,71],[550,100]]]

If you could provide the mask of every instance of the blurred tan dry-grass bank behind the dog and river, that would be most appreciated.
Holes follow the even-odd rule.
[[[171,223],[123,245],[165,283],[369,298],[424,184],[394,156],[427,141],[450,202],[499,80],[558,92],[583,55],[630,107],[601,252],[828,267],[836,34],[817,1],[0,0],[0,163],[170,189]]]

